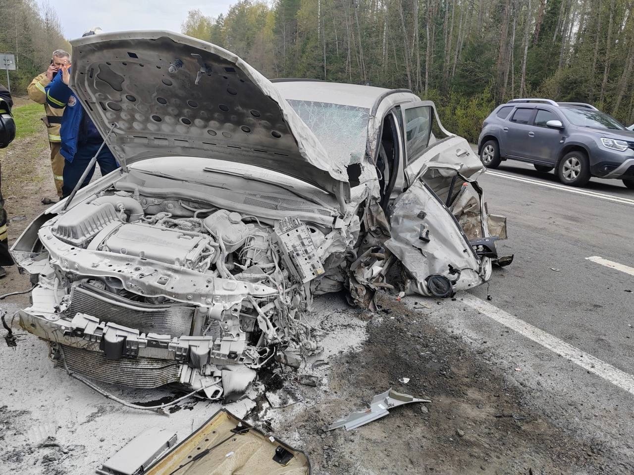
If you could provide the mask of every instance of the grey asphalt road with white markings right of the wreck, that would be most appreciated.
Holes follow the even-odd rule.
[[[508,217],[498,251],[515,261],[432,320],[491,353],[543,414],[634,472],[634,190],[600,179],[566,187],[512,161],[479,183],[489,212]]]

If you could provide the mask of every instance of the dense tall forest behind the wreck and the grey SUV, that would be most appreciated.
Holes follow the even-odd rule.
[[[183,32],[267,77],[406,87],[477,137],[510,98],[590,102],[634,122],[630,0],[242,0]]]

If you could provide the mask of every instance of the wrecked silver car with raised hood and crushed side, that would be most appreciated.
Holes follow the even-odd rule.
[[[378,289],[447,297],[491,278],[505,219],[433,103],[271,82],[169,32],[72,46],[71,85],[122,168],[12,249],[34,283],[20,323],[68,372],[231,398],[272,358],[320,352],[313,296],[375,308]]]

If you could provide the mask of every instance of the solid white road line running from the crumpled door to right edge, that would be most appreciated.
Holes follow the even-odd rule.
[[[480,312],[482,315],[495,320],[526,338],[532,339],[535,343],[539,343],[541,346],[548,348],[548,350],[557,353],[557,355],[566,358],[570,362],[581,366],[583,369],[602,377],[605,381],[609,381],[614,384],[614,386],[634,395],[634,376],[631,374],[621,371],[611,364],[607,364],[606,362],[593,357],[590,353],[583,352],[579,350],[579,348],[569,345],[565,341],[552,336],[550,333],[546,333],[545,331],[524,322],[524,320],[507,314],[504,310],[500,310],[500,308],[494,307],[484,300],[469,294],[463,294],[462,301],[469,305],[469,307]]]

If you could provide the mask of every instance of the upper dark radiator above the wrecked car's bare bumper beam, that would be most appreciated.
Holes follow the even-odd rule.
[[[125,300],[96,288],[75,287],[70,295],[68,315],[93,315],[103,322],[112,322],[138,329],[141,333],[189,335],[194,308],[187,305],[148,305]]]

